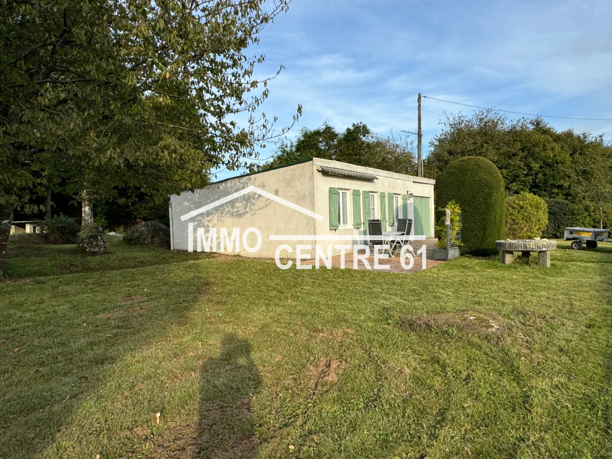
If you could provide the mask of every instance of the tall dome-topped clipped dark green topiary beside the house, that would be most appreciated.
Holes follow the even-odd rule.
[[[504,237],[506,190],[498,168],[480,156],[451,162],[436,180],[436,206],[455,201],[461,208],[461,252],[497,253]]]

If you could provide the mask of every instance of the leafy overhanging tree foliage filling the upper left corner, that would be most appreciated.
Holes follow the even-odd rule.
[[[256,116],[268,95],[267,80],[253,78],[264,56],[245,50],[287,6],[2,4],[0,206],[31,206],[58,182],[92,200],[123,186],[162,201],[206,185],[214,166],[248,166],[274,133]],[[242,128],[228,119],[241,113]]]

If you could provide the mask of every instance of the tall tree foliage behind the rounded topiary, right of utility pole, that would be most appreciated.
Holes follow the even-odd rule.
[[[430,142],[427,176],[436,178],[453,159],[482,156],[498,166],[506,192],[583,205],[589,225],[607,223],[612,207],[612,146],[601,136],[559,132],[539,118],[509,121],[490,110],[447,117]],[[605,225],[604,225],[605,226]]]

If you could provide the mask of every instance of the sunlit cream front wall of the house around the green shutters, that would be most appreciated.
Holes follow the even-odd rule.
[[[378,177],[375,181],[370,181],[367,179],[357,179],[353,177],[338,177],[332,176],[326,173],[321,173],[317,170],[317,166],[330,166],[345,170],[357,171],[362,173],[373,174]],[[347,235],[347,236],[356,236],[362,235],[364,226],[361,228],[353,228],[353,201],[352,196],[349,195],[350,204],[348,206],[348,228],[338,228],[338,230],[330,230],[329,229],[329,187],[335,188],[345,188],[347,190],[357,189],[360,190],[361,200],[363,200],[363,191],[366,190],[368,192],[375,192],[376,195],[376,206],[377,212],[380,212],[380,195],[378,193],[394,193],[400,195],[400,207],[401,207],[401,195],[408,194],[407,192],[411,192],[415,196],[424,196],[430,198],[430,234],[433,236],[434,234],[434,209],[435,204],[433,202],[433,188],[435,185],[435,180],[427,179],[424,177],[414,177],[405,174],[397,174],[389,171],[382,171],[373,168],[367,168],[363,166],[355,166],[348,163],[340,163],[336,161],[329,161],[324,159],[313,159],[312,163],[313,169],[313,179],[315,184],[315,212],[321,215],[324,215],[323,221],[317,221],[315,223],[316,234],[324,235],[324,234],[335,234],[335,235]],[[363,204],[361,207],[361,211],[363,214]],[[401,212],[400,212],[401,215]],[[363,215],[362,215],[363,217]],[[377,218],[380,218],[380,214],[377,215]],[[413,200],[408,200],[408,215],[407,218],[412,218],[414,220],[414,207]],[[387,217],[387,221],[388,221]],[[387,226],[387,228],[383,228],[383,231],[395,230],[397,225],[394,227]],[[414,234],[414,225],[412,226],[412,234]],[[350,239],[347,239],[347,242],[339,242],[338,244],[354,244],[354,242],[348,242]],[[338,253],[338,250],[334,250],[334,253]]]

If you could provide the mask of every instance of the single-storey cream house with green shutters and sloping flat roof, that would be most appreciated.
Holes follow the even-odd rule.
[[[323,250],[335,254],[363,244],[373,218],[382,220],[383,231],[394,230],[398,218],[412,218],[412,234],[425,239],[434,231],[434,184],[311,158],[171,195],[171,246],[274,258],[282,244],[295,250],[327,241]],[[282,257],[295,256],[288,252]]]

